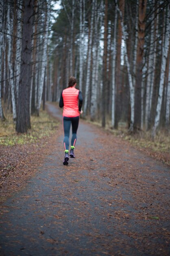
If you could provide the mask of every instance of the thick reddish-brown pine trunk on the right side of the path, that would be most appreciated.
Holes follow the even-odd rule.
[[[139,0],[139,19],[138,19],[138,43],[136,60],[136,84],[135,84],[135,118],[134,130],[141,129],[141,92],[142,92],[142,67],[145,36],[145,13],[147,0]]]

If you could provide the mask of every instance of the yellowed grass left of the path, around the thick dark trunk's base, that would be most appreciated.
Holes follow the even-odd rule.
[[[31,129],[27,133],[17,134],[13,116],[5,113],[6,121],[0,121],[0,145],[14,146],[16,144],[35,143],[43,137],[56,132],[58,123],[46,111],[41,110],[40,116],[31,116]]]

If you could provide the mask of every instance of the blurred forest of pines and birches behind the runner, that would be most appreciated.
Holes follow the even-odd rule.
[[[27,132],[71,75],[85,118],[168,131],[169,0],[0,0],[0,122]]]

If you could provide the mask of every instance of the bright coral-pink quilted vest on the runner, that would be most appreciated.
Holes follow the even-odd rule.
[[[69,87],[63,90],[63,117],[78,117],[80,115],[78,111],[78,94],[79,90],[74,87]]]

